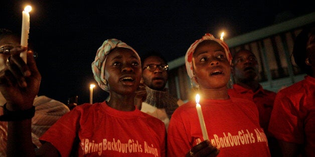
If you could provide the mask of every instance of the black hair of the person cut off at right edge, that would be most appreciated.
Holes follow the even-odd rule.
[[[295,63],[308,75],[312,73],[312,70],[305,63],[305,59],[307,58],[306,44],[312,29],[314,29],[314,24],[309,24],[296,36],[292,52]]]

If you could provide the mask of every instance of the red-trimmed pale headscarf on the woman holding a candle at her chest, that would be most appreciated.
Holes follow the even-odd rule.
[[[193,79],[194,77],[193,54],[198,44],[205,40],[213,40],[213,41],[218,42],[224,48],[228,61],[230,62],[230,64],[232,63],[232,54],[229,50],[228,45],[221,39],[215,38],[212,34],[206,33],[204,36],[202,36],[201,39],[196,40],[193,44],[190,45],[185,55],[185,64],[186,64],[187,73],[189,77],[192,79],[192,81],[194,81],[195,83],[196,83],[196,80]]]

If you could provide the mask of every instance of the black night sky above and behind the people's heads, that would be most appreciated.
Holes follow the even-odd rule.
[[[108,38],[120,39],[141,55],[164,53],[172,61],[184,56],[206,32],[224,39],[314,11],[312,0],[1,0],[1,28],[21,32],[22,10],[30,4],[29,47],[38,52],[42,74],[39,95],[67,103],[103,101],[91,63]],[[314,17],[315,18],[315,17]]]

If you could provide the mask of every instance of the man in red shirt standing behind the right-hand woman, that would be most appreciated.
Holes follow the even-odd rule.
[[[231,97],[253,101],[259,111],[259,123],[268,136],[268,124],[276,93],[263,89],[258,82],[258,62],[253,52],[247,49],[237,51],[232,60],[232,74],[236,81],[228,90]],[[276,140],[268,136],[271,155],[277,155],[279,148]]]

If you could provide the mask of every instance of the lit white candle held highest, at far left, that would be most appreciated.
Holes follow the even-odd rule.
[[[21,33],[21,45],[22,46],[28,46],[28,39],[29,39],[29,32],[30,32],[30,14],[29,12],[32,10],[32,7],[30,5],[27,5],[23,12],[23,18],[22,18],[22,33]],[[20,56],[22,59],[26,62],[26,53],[22,52]]]

